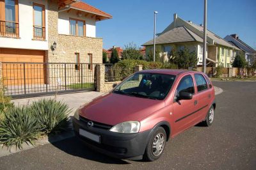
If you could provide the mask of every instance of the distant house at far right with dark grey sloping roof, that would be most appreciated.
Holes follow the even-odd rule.
[[[232,60],[237,55],[244,56],[246,61],[249,65],[252,65],[253,62],[256,59],[256,50],[254,50],[252,47],[244,43],[242,40],[239,39],[239,36],[237,34],[234,35],[227,35],[224,38],[227,42],[231,43],[232,45],[236,46],[240,50],[234,50],[232,54]]]

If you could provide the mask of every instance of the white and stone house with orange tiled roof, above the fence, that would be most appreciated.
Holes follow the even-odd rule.
[[[0,62],[102,63],[96,22],[111,18],[77,0],[1,0]]]

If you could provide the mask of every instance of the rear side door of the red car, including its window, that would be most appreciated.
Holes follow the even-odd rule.
[[[204,75],[201,73],[195,73],[195,82],[196,82],[196,94],[198,97],[198,113],[196,114],[197,121],[202,121],[209,109],[209,104],[211,102],[211,91],[207,86],[207,81],[205,80]]]

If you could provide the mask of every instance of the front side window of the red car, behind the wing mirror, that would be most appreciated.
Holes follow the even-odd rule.
[[[180,80],[179,86],[176,91],[178,97],[180,92],[188,92],[192,94],[195,93],[195,87],[191,75],[186,75]]]

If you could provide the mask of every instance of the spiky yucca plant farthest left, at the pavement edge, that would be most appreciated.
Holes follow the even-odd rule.
[[[22,143],[34,144],[34,140],[38,139],[40,126],[29,107],[12,107],[4,116],[0,122],[0,144],[8,147],[16,145],[21,149]]]

